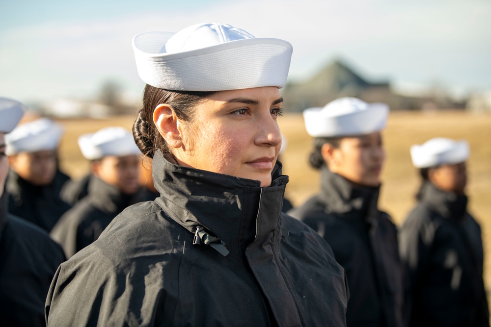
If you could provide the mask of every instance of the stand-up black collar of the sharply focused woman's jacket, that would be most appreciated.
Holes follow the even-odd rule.
[[[257,180],[175,165],[161,151],[153,158],[153,179],[161,196],[155,201],[191,233],[203,226],[238,254],[278,227],[288,176],[276,162],[272,186]]]

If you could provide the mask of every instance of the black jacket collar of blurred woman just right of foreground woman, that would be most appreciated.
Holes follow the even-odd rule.
[[[368,187],[321,169],[320,200],[326,204],[326,213],[370,219],[378,213],[380,186]]]

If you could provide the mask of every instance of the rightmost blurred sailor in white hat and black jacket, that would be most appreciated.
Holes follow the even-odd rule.
[[[410,149],[422,184],[400,232],[411,326],[489,326],[481,228],[467,211],[466,141],[433,138]]]

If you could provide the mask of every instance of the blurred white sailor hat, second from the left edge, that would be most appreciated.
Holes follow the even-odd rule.
[[[55,150],[61,135],[63,135],[63,128],[48,118],[19,125],[5,135],[6,154]]]

